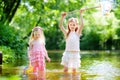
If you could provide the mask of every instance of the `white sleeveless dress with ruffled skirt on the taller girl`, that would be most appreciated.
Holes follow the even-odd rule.
[[[62,56],[61,65],[75,69],[80,67],[79,38],[80,36],[76,32],[69,33],[66,39],[66,48]]]

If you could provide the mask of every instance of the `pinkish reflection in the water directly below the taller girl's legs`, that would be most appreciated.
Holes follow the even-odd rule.
[[[79,73],[64,73],[62,76],[60,76],[60,80],[81,80],[81,75]]]

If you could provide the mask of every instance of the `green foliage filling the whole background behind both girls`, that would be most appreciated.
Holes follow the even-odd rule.
[[[18,1],[8,2],[19,3]],[[0,46],[9,47],[13,51],[15,60],[26,58],[27,42],[32,28],[36,25],[41,26],[44,30],[48,50],[65,49],[65,39],[59,29],[61,12],[70,12],[96,5],[95,0],[22,0],[20,5],[18,4],[19,7],[15,7],[16,4],[10,4],[14,6],[14,9],[17,8],[17,11],[11,10],[11,14],[16,12],[14,17],[11,15],[5,18],[8,13],[4,12],[4,2],[0,1],[0,3],[0,20],[3,18],[9,20],[9,25],[0,22]],[[6,3],[6,5],[9,4]],[[108,16],[103,16],[97,9],[83,12],[84,28],[80,40],[81,49],[119,49],[119,8],[117,6]],[[79,19],[79,12],[67,14],[63,22],[65,26],[69,17]]]

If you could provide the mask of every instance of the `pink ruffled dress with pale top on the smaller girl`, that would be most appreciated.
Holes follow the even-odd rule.
[[[34,67],[34,72],[45,70],[45,45],[41,41],[33,41],[32,48],[29,50],[30,62]]]

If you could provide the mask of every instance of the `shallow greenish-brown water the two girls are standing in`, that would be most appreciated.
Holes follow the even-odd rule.
[[[50,55],[50,54],[49,54]],[[52,56],[55,58],[52,58]],[[63,72],[60,65],[61,55],[51,53],[51,63],[46,64],[46,80],[120,80],[120,53],[119,52],[83,52],[81,53],[81,68],[76,74]],[[26,65],[0,66],[0,80],[30,80],[34,75],[23,75]],[[33,79],[35,80],[35,79]]]

